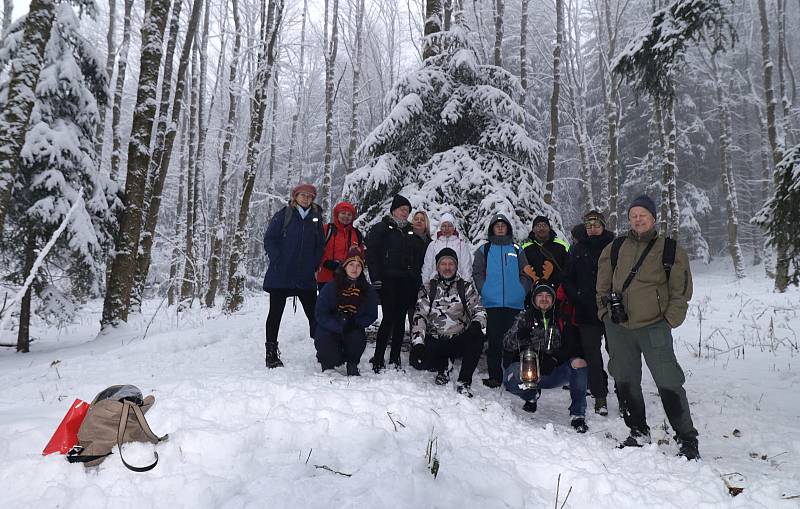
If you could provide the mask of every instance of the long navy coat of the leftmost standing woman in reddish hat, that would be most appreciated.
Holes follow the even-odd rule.
[[[287,213],[292,218],[284,231]],[[314,273],[324,248],[319,206],[312,205],[305,219],[296,207],[283,207],[272,216],[264,234],[264,251],[269,258],[264,290],[316,290]]]

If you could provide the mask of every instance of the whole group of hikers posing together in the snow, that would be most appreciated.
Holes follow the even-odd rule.
[[[525,411],[535,412],[542,389],[568,384],[570,424],[585,433],[587,389],[595,413],[608,415],[605,337],[620,413],[630,429],[620,447],[650,440],[641,388],[644,356],[679,454],[699,458],[671,335],[686,316],[691,272],[685,251],[655,227],[652,199],[640,196],[630,204],[630,231],[616,239],[603,214],[592,210],[573,228],[572,247],[544,216],[534,219],[520,245],[511,222],[497,214],[488,221],[488,240],[474,249],[449,213],[438,218],[433,238],[427,214],[412,215],[401,195],[366,236],[353,226],[352,204],[337,204],[333,221],[325,224],[315,197],[314,186],[295,187],[264,236],[268,368],[283,366],[278,329],[286,299],[296,297],[322,370],[345,365],[348,376],[359,376],[365,329],[378,319],[380,304],[369,359],[375,373],[387,369],[387,348],[388,367],[401,369],[409,321],[408,363],[435,372],[436,384],[449,384],[453,361],[461,359],[455,388],[472,397],[486,343],[483,385],[505,387],[525,401]],[[531,349],[538,359],[535,384],[525,383],[521,368],[523,352]]]

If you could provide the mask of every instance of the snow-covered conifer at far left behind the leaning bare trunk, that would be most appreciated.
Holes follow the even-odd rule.
[[[94,6],[81,7],[91,13]],[[14,58],[23,23],[18,20],[6,33],[0,66]],[[98,103],[105,104],[106,88],[103,61],[81,35],[73,7],[58,4],[3,231],[2,251],[13,264],[12,280],[21,283],[26,278],[38,249],[75,202],[82,204],[22,300],[18,351],[29,348],[32,290],[40,298],[37,316],[57,320],[68,320],[80,299],[101,292],[105,254],[113,245],[112,209],[120,206],[117,185],[98,171],[94,149]],[[0,97],[4,99],[7,91],[6,81],[0,84]]]

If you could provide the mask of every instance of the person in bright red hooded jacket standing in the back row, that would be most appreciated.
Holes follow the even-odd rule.
[[[317,271],[317,286],[320,290],[325,283],[332,281],[342,261],[353,246],[364,248],[361,232],[353,226],[356,208],[343,201],[333,207],[333,222],[323,226],[325,251]]]

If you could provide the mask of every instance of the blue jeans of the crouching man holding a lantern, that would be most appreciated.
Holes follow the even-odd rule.
[[[549,375],[542,376],[536,389],[527,389],[520,387],[522,377],[520,376],[519,362],[515,362],[506,368],[503,374],[503,384],[511,394],[515,394],[525,401],[536,401],[539,399],[542,389],[554,389],[569,383],[571,398],[569,414],[583,417],[586,415],[586,371],[586,368],[573,368],[572,359],[570,359],[557,366]]]

